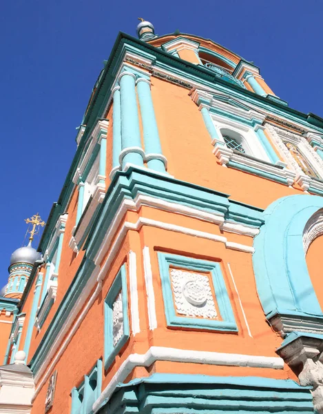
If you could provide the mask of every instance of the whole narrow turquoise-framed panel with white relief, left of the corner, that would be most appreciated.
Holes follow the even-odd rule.
[[[129,339],[127,275],[121,267],[105,297],[105,368],[108,368]]]

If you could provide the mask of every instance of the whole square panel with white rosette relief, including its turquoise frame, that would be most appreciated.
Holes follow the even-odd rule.
[[[238,331],[220,263],[158,253],[167,326]]]

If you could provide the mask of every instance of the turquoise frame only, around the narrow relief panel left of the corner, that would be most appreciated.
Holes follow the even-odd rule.
[[[113,304],[119,293],[122,293],[122,308],[123,308],[123,334],[118,339],[118,342],[113,344]],[[104,304],[105,326],[104,326],[104,355],[105,355],[105,369],[114,361],[114,358],[121,351],[130,336],[129,319],[128,319],[128,297],[127,297],[127,275],[125,264],[121,267],[112,283],[112,286],[105,297]]]

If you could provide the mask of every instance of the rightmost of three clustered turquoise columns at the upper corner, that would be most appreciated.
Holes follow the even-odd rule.
[[[163,158],[163,152],[160,146],[150,82],[144,78],[138,79],[137,92],[141,119],[143,121],[143,139],[148,167],[158,172],[166,172],[163,160],[158,158],[158,155],[161,155],[162,157],[160,158]],[[156,155],[156,157],[149,157],[149,155]]]

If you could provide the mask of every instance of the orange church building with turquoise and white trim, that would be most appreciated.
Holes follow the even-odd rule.
[[[209,39],[138,37],[14,304],[25,412],[323,413],[323,119]]]

